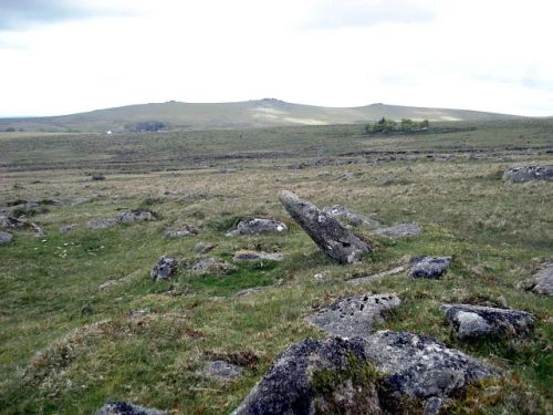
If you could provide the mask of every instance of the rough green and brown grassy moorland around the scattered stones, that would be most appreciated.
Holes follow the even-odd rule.
[[[436,125],[428,134],[367,136],[362,126],[306,126],[135,135],[0,134],[0,206],[59,199],[30,218],[44,237],[17,231],[0,246],[0,413],[91,414],[107,400],[220,414],[234,408],[274,356],[295,341],[322,338],[303,318],[361,292],[396,292],[403,304],[380,328],[425,333],[481,357],[501,380],[471,388],[459,414],[553,413],[553,300],[517,284],[552,260],[553,184],[504,184],[504,168],[553,164],[553,121]],[[102,173],[103,181],[90,174]],[[344,177],[344,174],[348,174]],[[349,175],[351,174],[351,175]],[[337,266],[285,214],[278,191],[319,206],[341,204],[383,224],[418,222],[419,236],[390,241],[358,264]],[[91,201],[71,205],[85,197]],[[158,221],[91,230],[93,219],[148,208]],[[32,212],[31,212],[32,214]],[[283,220],[283,235],[226,237],[240,217]],[[60,227],[79,224],[61,235]],[[198,235],[163,238],[188,224]],[[199,276],[205,256],[231,261],[239,249],[282,251],[284,261],[238,264]],[[161,255],[181,268],[152,282]],[[442,280],[347,279],[450,255]],[[314,274],[326,280],[317,282]],[[115,281],[105,289],[100,286]],[[265,291],[234,293],[267,286]],[[538,318],[529,338],[457,341],[441,302],[504,304]],[[244,376],[205,375],[213,356],[244,365]]]

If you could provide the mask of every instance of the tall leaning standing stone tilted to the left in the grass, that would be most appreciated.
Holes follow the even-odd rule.
[[[282,190],[279,199],[311,239],[340,263],[358,261],[363,253],[372,251],[367,242],[344,228],[337,219],[292,191]]]

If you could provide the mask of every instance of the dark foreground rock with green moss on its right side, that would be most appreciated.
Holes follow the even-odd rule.
[[[382,414],[364,342],[305,340],[278,356],[233,415]]]

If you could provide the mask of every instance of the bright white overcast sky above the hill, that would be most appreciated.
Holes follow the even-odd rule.
[[[553,115],[550,0],[0,0],[0,116],[275,97]]]

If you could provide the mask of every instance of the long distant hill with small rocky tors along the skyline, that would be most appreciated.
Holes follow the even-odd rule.
[[[367,123],[382,118],[436,121],[497,121],[514,115],[467,110],[426,108],[372,104],[325,107],[291,104],[274,98],[232,103],[195,104],[165,102],[96,110],[87,113],[0,118],[0,131],[107,132],[249,128],[279,125],[327,125]]]

